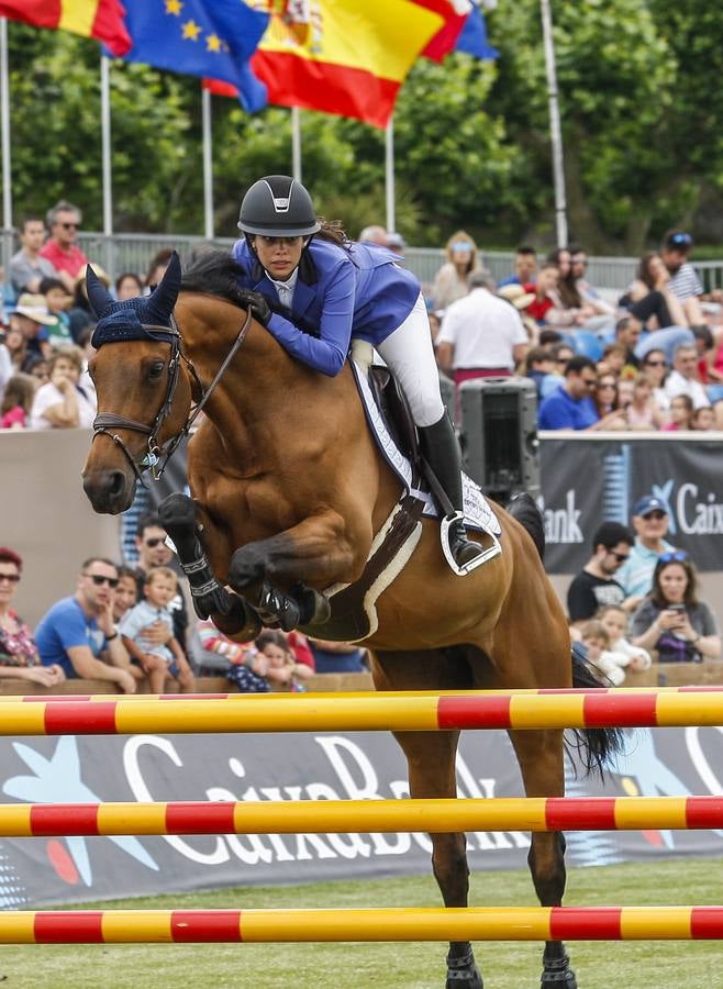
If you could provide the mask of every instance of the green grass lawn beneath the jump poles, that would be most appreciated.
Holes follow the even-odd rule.
[[[723,902],[723,860],[575,869],[567,905]],[[474,905],[535,904],[526,871],[478,873]],[[113,909],[438,905],[432,877],[302,887],[252,887],[87,904]],[[719,942],[570,944],[580,989],[723,989]],[[486,989],[537,989],[541,945],[480,943]],[[254,987],[254,989],[443,989],[442,944],[5,945],[9,987]]]

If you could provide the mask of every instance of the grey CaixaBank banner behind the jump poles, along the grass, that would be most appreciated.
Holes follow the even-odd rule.
[[[604,786],[568,764],[582,796],[723,793],[723,729],[630,731]],[[463,735],[460,798],[514,797],[522,785],[502,732]],[[134,735],[0,740],[4,803],[168,800],[402,799],[407,766],[387,733]],[[576,832],[570,866],[723,855],[714,831]],[[0,840],[4,909],[180,892],[207,887],[363,879],[427,873],[426,834],[263,834]],[[530,835],[467,836],[472,869],[524,868]]]

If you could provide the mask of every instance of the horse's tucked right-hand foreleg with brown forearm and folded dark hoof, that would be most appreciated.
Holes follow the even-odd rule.
[[[266,624],[290,631],[329,618],[329,601],[312,585],[325,588],[346,580],[353,563],[344,520],[327,511],[236,549],[229,584],[238,593],[258,585],[256,608]]]

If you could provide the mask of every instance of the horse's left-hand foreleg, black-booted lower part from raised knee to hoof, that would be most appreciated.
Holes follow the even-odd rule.
[[[214,625],[226,635],[241,633],[244,641],[253,638],[260,629],[258,615],[216,580],[205,555],[204,526],[199,522],[196,503],[186,494],[169,494],[162,502],[158,515],[178,552],[198,616],[213,619]]]

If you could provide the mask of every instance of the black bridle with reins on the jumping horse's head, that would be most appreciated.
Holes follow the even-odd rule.
[[[181,346],[183,338],[173,315],[170,316],[169,326],[157,326],[149,323],[143,324],[143,330],[145,330],[145,332],[152,340],[159,341],[160,343],[167,343],[170,346],[166,395],[164,396],[164,399],[160,403],[160,408],[158,409],[158,412],[156,413],[156,418],[154,419],[152,425],[146,425],[146,423],[144,422],[138,422],[135,419],[129,419],[125,415],[116,415],[114,412],[103,412],[100,415],[97,415],[93,421],[93,440],[96,438],[96,436],[109,436],[114,443],[116,443],[123,451],[123,454],[125,455],[125,458],[127,459],[130,465],[133,467],[133,471],[136,478],[144,487],[148,487],[143,477],[145,470],[151,470],[151,475],[154,480],[159,480],[163,477],[164,470],[168,465],[168,460],[178,448],[180,442],[190,433],[191,426],[196,422],[201,410],[210,399],[216,385],[223,377],[226,368],[229,367],[238,348],[246,338],[248,327],[251,326],[251,321],[252,310],[249,309],[246,313],[244,324],[238,331],[231,349],[224,357],[221,367],[215,373],[213,380],[208,388],[203,387],[201,379],[196,371],[196,368],[188,359],[188,357],[183,354]],[[183,423],[179,432],[167,440],[163,446],[159,446],[158,434],[160,432],[160,427],[170,414],[170,410],[173,408],[176,388],[178,387],[181,362],[188,368],[193,382],[193,390],[200,397],[196,403],[196,407],[191,409],[188,418],[186,419],[186,422]],[[148,437],[147,453],[140,463],[135,459],[131,451],[127,448],[123,438],[119,436],[118,433],[114,432],[114,430],[133,430],[136,433],[144,433]]]

